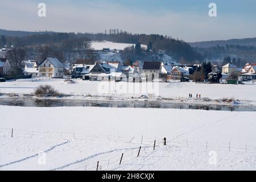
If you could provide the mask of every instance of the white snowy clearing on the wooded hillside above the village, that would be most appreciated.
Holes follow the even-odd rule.
[[[95,50],[102,50],[103,48],[110,48],[110,50],[114,50],[114,49],[117,49],[117,50],[123,50],[125,49],[126,47],[132,47],[134,46],[135,47],[135,44],[126,44],[126,43],[114,43],[114,42],[108,42],[108,41],[105,41],[105,42],[91,42],[91,47]],[[142,48],[147,48],[146,45],[141,45]]]

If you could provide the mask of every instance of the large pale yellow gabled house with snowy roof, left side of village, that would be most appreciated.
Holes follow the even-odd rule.
[[[47,57],[39,64],[40,77],[63,78],[64,64],[56,57]]]

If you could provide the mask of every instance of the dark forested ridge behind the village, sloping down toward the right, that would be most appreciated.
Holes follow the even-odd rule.
[[[80,42],[85,40],[108,40],[117,43],[141,43],[150,44],[153,51],[163,51],[176,60],[183,60],[188,63],[202,61],[200,53],[195,51],[189,44],[182,40],[172,39],[163,35],[130,34],[126,31],[110,32],[107,34],[75,34],[56,32],[22,32],[22,31],[2,31],[5,34],[6,44],[14,46],[31,46],[49,43]],[[26,35],[27,34],[27,35]],[[1,35],[1,31],[0,31]],[[26,35],[26,36],[22,36]]]

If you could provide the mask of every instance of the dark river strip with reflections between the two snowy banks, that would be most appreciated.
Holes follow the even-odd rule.
[[[0,98],[0,105],[23,107],[133,107],[159,109],[197,109],[197,110],[225,110],[225,111],[256,111],[255,106],[239,105],[206,105],[170,103],[161,101],[83,101],[63,99],[35,99],[35,98]]]

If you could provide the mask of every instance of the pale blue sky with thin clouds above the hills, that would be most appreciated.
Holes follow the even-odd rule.
[[[38,3],[47,17],[37,15]],[[217,17],[208,5],[217,4]],[[0,28],[104,32],[119,28],[133,33],[163,34],[188,42],[256,37],[254,0],[9,0],[1,2]]]

